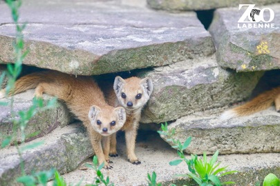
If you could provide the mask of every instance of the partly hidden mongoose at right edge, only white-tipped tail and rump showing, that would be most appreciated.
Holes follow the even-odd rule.
[[[280,112],[280,87],[276,87],[272,90],[263,92],[259,96],[256,96],[252,101],[245,103],[239,107],[235,107],[232,110],[227,110],[221,115],[222,120],[233,118],[236,116],[248,116],[265,110],[275,103],[277,112]]]

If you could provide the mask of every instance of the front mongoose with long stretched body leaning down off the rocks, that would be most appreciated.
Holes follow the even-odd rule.
[[[38,98],[45,92],[66,103],[87,128],[99,163],[104,162],[106,169],[111,168],[108,164],[109,149],[104,149],[106,150],[104,155],[101,138],[117,132],[124,125],[126,120],[124,108],[108,105],[100,87],[87,76],[75,77],[56,71],[35,72],[17,80],[13,93],[17,94],[32,88],[36,88],[35,96]],[[6,91],[1,90],[0,99],[5,94]]]

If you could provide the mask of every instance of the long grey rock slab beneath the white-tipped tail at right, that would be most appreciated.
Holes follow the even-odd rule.
[[[187,153],[214,154],[216,150],[220,154],[280,152],[280,114],[273,107],[227,121],[200,112],[179,118],[169,125],[169,130],[173,128],[174,138],[182,142],[192,136]],[[167,140],[166,136],[162,138]]]

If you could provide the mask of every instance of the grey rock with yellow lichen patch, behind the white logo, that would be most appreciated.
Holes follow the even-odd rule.
[[[238,72],[280,68],[280,4],[265,7],[274,11],[275,17],[270,22],[274,24],[274,28],[249,28],[252,23],[238,23],[244,8],[247,7],[241,10],[223,8],[214,12],[209,32],[214,39],[216,56],[221,67],[232,68]],[[268,11],[265,11],[264,19],[270,19]],[[255,23],[256,27],[259,27],[259,23]]]

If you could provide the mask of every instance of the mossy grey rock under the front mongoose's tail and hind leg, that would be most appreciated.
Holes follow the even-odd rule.
[[[21,110],[28,110],[32,105],[34,90],[28,90],[21,94],[14,96],[14,112],[19,112]],[[51,96],[44,94],[44,100],[46,101],[52,99]],[[10,97],[6,99],[1,99],[1,102],[10,103]],[[14,123],[12,122],[10,105],[0,106],[0,144],[7,138],[7,136],[14,136],[13,141],[21,141],[21,131],[19,127],[14,129]],[[19,115],[15,115],[15,119],[19,119]],[[63,127],[70,123],[71,114],[69,113],[66,105],[60,101],[57,101],[55,106],[49,110],[44,110],[35,114],[34,117],[26,125],[25,134],[26,141],[31,141],[40,136],[44,136],[49,132],[53,131],[56,127]]]

